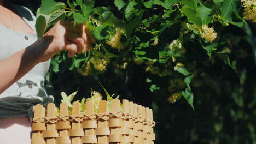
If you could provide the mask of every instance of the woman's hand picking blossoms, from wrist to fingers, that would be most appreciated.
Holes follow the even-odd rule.
[[[91,50],[94,38],[86,31],[84,25],[73,26],[73,22],[58,21],[38,43],[39,62],[44,62],[62,50],[69,51],[68,57]]]

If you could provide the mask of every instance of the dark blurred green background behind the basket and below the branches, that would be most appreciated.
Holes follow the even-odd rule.
[[[13,3],[25,5],[34,12],[40,5],[38,0]],[[113,1],[95,3],[111,5]],[[218,60],[207,69],[199,67],[191,86],[195,110],[184,98],[174,104],[168,103],[170,95],[166,90],[150,92],[150,83],[146,82],[149,76],[160,87],[168,83],[163,82],[165,77],[142,73],[140,65],[132,68],[126,83],[126,71],[114,69],[113,65],[109,65],[104,74],[81,76],[68,70],[68,62],[62,63],[60,73],[50,70],[47,77],[50,85],[46,85],[56,104],[60,103],[62,91],[71,94],[78,87],[75,100],[90,97],[91,88],[104,94],[98,84],[101,82],[110,94],[152,108],[156,122],[155,143],[256,143],[255,31],[255,23],[243,28],[225,27],[220,41],[231,50],[229,57],[235,70],[220,67]]]

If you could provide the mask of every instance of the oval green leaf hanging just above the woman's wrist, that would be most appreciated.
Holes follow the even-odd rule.
[[[45,16],[43,15],[38,16],[36,20],[36,31],[37,31],[38,38],[43,37],[46,27],[47,27],[47,23],[46,23]]]

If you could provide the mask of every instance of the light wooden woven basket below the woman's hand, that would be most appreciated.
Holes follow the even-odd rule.
[[[61,103],[58,116],[53,103],[46,110],[38,104],[33,109],[31,143],[153,144],[152,110],[128,100],[122,102],[122,111],[120,100],[114,99],[112,110],[107,112],[107,101],[101,100],[98,113],[94,113],[92,101],[87,101],[84,115],[79,102],[73,103],[72,115],[68,115],[67,104]]]

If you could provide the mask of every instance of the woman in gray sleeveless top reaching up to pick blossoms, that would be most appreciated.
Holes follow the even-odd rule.
[[[28,8],[0,0],[0,11],[0,143],[30,143],[32,107],[53,102],[43,86],[50,58],[90,50],[94,39],[84,25],[64,21],[37,39]]]

